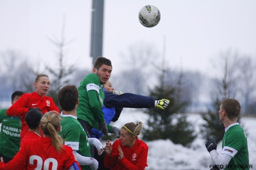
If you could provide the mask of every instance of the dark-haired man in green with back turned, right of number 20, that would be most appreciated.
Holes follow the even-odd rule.
[[[98,169],[98,161],[91,158],[90,146],[95,146],[98,154],[102,154],[102,143],[96,138],[88,138],[84,128],[77,120],[78,90],[74,85],[67,85],[58,92],[58,102],[62,107],[60,135],[65,145],[73,149],[82,170]]]

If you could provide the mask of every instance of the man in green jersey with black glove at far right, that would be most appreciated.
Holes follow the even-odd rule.
[[[206,149],[210,152],[212,160],[219,169],[225,170],[249,170],[249,154],[247,138],[244,129],[237,123],[241,105],[235,99],[224,99],[219,110],[219,119],[225,127],[222,139],[222,152],[216,151],[217,144],[210,139]]]

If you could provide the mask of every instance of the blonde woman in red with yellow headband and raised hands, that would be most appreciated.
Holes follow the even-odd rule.
[[[126,123],[113,145],[108,140],[104,147],[104,166],[110,170],[144,170],[148,166],[148,146],[138,139],[141,131],[141,121],[138,124]]]

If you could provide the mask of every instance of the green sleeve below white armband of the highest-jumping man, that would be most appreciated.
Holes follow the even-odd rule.
[[[102,111],[102,106],[100,104],[100,101],[98,100],[98,92],[96,90],[89,90],[87,93],[94,117],[99,123],[103,123],[105,119]]]

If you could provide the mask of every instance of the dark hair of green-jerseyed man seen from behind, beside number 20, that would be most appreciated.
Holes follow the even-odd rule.
[[[75,108],[78,100],[78,90],[75,85],[66,85],[58,92],[58,102],[65,111],[71,111]]]

